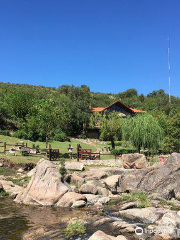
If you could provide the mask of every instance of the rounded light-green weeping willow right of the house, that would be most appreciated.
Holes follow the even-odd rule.
[[[131,117],[123,121],[122,138],[130,141],[139,152],[141,148],[156,152],[162,144],[163,130],[151,115]]]

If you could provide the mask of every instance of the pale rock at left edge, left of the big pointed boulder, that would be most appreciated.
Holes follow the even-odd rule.
[[[0,184],[3,186],[4,191],[8,192],[12,197],[16,197],[24,189],[18,185],[15,185],[11,181],[0,180]]]

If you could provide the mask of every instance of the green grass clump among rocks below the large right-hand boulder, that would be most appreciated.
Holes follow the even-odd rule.
[[[121,196],[121,201],[137,201],[138,208],[151,206],[151,200],[145,192],[132,192],[129,195],[123,195]]]

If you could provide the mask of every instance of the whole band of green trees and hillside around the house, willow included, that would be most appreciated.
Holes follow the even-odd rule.
[[[49,88],[0,83],[0,134],[13,134],[18,139],[37,144],[47,140],[62,142],[61,146],[64,146],[69,137],[86,137],[91,107],[105,107],[118,99],[131,108],[145,110],[150,116],[122,121],[115,114],[109,115],[108,120],[104,115],[100,119],[101,139],[111,141],[112,148],[115,148],[115,141],[123,137],[138,149],[180,151],[180,98],[172,96],[169,105],[168,94],[162,89],[145,96],[138,94],[136,89],[105,94],[91,92],[86,85]],[[132,129],[131,123],[135,128]],[[165,138],[163,148],[162,133]]]

